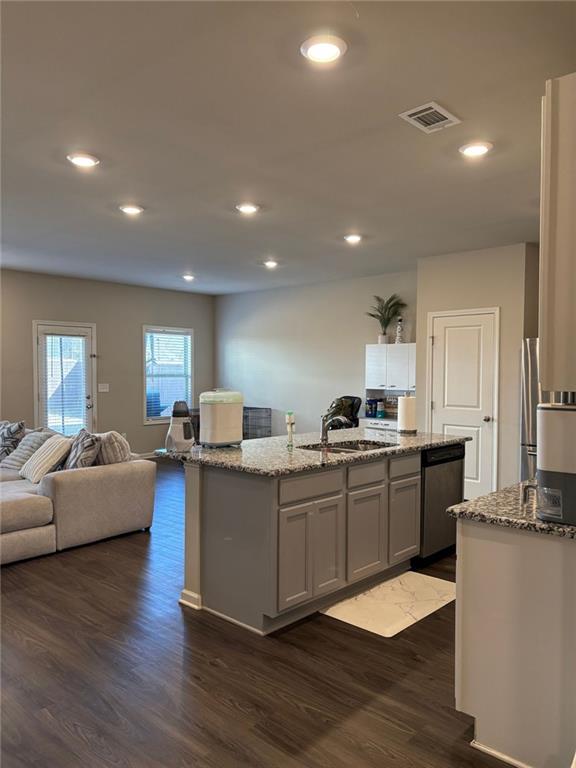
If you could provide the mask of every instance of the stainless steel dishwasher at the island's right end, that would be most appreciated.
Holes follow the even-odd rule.
[[[464,499],[464,445],[422,452],[422,526],[420,557],[456,544],[456,520],[448,507]]]

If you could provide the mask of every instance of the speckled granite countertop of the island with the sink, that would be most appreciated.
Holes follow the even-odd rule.
[[[399,435],[397,432],[389,430],[358,427],[356,429],[332,430],[329,433],[329,442],[374,440],[382,443],[394,443],[394,445],[361,453],[328,453],[323,455],[320,451],[306,451],[299,448],[302,445],[320,442],[318,432],[308,432],[294,435],[294,449],[292,451],[288,450],[286,436],[282,435],[280,437],[244,440],[239,448],[201,448],[195,446],[189,453],[170,454],[170,458],[208,467],[221,467],[238,472],[279,477],[325,467],[374,461],[380,457],[414,453],[442,445],[456,445],[467,439],[469,438],[444,437],[427,432],[418,432],[415,435]]]

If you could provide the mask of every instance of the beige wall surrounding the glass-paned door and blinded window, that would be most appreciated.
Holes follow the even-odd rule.
[[[163,446],[165,425],[143,423],[142,326],[194,329],[195,397],[213,385],[214,299],[180,291],[3,270],[0,414],[34,421],[33,320],[96,323],[99,431],[125,432],[132,449]]]

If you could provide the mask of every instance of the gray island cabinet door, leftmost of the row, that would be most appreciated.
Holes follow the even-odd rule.
[[[314,503],[281,509],[278,517],[278,610],[312,597]]]

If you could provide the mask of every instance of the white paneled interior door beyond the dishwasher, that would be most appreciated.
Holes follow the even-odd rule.
[[[431,315],[431,427],[466,443],[467,499],[496,489],[498,311]]]

